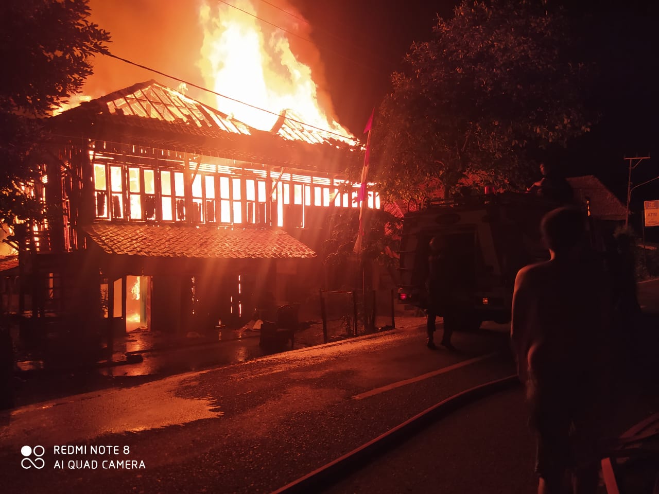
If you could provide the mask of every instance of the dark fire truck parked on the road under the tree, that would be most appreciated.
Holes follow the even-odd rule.
[[[440,237],[455,262],[459,285],[467,287],[462,290],[467,294],[463,303],[441,304],[444,325],[469,330],[478,329],[483,321],[509,322],[517,271],[549,258],[540,219],[556,206],[534,194],[512,192],[451,201],[424,199],[418,210],[403,216],[399,302],[428,307],[428,244]]]

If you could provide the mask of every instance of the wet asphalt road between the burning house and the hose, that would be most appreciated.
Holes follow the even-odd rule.
[[[432,351],[421,328],[393,331],[16,408],[0,416],[5,491],[271,492],[513,372],[505,329],[460,333],[455,344]],[[44,453],[23,456],[26,445]],[[100,446],[117,448],[92,452]]]

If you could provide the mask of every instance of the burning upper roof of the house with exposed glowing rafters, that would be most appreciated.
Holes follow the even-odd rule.
[[[357,140],[299,123],[285,111],[271,132],[252,128],[155,80],[49,119],[53,134],[189,151],[301,169],[339,171]]]

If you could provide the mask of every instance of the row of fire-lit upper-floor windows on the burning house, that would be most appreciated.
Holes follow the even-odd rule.
[[[273,188],[273,181],[267,178],[194,172],[190,175],[190,196],[186,198],[183,171],[96,163],[96,217],[265,225],[267,197],[272,192],[277,203],[277,223],[281,227],[287,206],[299,206],[299,209],[303,209],[302,206],[359,206],[357,188],[339,193],[333,186],[284,180]],[[368,207],[380,207],[378,194],[368,193]],[[304,226],[303,218],[301,223],[300,226]]]

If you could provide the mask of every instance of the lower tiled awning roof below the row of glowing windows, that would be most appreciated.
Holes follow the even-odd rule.
[[[200,225],[93,223],[84,228],[107,252],[129,256],[216,259],[313,258],[313,250],[272,229]]]

